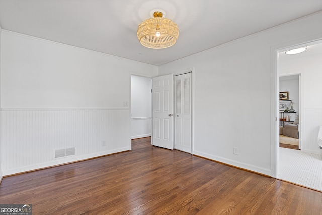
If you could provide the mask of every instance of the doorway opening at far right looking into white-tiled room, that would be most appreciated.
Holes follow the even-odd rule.
[[[322,92],[322,86],[319,83],[322,79],[320,73],[322,62],[318,60],[322,57],[322,40],[289,47],[288,49],[300,46],[306,46],[307,50],[296,55],[285,55],[284,51],[287,50],[285,48],[277,53],[277,92],[288,92],[288,100],[292,100],[289,103],[293,103],[294,106],[297,103],[296,93],[291,86],[288,86],[288,89],[291,90],[285,89],[282,82],[284,84],[292,82],[286,80],[298,77],[299,98],[294,112],[298,112],[299,118],[297,127],[299,150],[279,147],[279,132],[276,132],[276,178],[322,191],[322,168],[320,168],[322,165],[322,150],[319,149],[317,144],[318,128],[322,125],[322,101],[316,100],[319,97],[318,92]],[[293,82],[296,82],[296,80]],[[283,103],[283,100],[279,100],[277,97],[277,104],[281,101]],[[283,109],[277,111],[284,113]],[[295,121],[288,119],[285,121],[291,121],[292,124]],[[279,127],[281,121],[277,123],[279,125],[276,124],[276,126]]]

